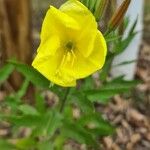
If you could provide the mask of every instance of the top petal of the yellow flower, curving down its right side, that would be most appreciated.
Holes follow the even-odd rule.
[[[78,20],[81,30],[77,31],[76,43],[80,52],[88,57],[93,50],[97,32],[97,23],[92,13],[77,0],[69,0],[60,7],[60,10]],[[85,48],[86,47],[86,48]]]

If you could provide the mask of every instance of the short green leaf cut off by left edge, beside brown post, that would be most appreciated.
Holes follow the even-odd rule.
[[[11,64],[6,64],[0,69],[0,83],[3,83],[9,75],[13,72],[14,66]]]

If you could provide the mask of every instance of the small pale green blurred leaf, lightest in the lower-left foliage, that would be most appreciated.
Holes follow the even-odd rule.
[[[18,110],[20,110],[24,115],[39,115],[39,112],[34,107],[27,104],[20,105]]]

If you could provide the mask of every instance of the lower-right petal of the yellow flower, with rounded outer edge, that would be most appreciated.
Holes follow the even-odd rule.
[[[102,34],[97,31],[94,48],[89,57],[85,58],[79,51],[75,51],[76,59],[71,67],[70,63],[64,70],[76,79],[84,78],[101,69],[105,62],[107,47]]]

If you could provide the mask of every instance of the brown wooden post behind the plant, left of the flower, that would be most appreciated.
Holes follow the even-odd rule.
[[[31,9],[30,0],[0,0],[0,36],[3,44],[3,60],[15,57],[25,63],[31,63]],[[18,73],[11,77],[16,89],[22,78]]]

